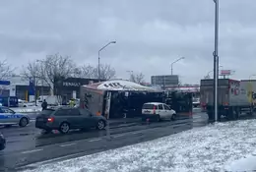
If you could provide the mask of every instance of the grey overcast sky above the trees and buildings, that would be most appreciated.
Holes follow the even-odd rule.
[[[1,0],[0,58],[22,68],[59,52],[78,65],[101,63],[127,79],[128,70],[173,74],[198,84],[213,70],[213,0]],[[220,0],[220,65],[232,78],[256,74],[256,1]]]

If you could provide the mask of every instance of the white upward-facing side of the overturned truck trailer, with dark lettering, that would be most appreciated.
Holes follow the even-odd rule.
[[[139,84],[124,80],[111,80],[93,85],[85,85],[85,87],[101,90],[155,90],[152,87],[141,86]]]

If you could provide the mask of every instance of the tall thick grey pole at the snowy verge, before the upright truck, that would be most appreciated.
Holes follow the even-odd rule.
[[[218,82],[219,82],[219,0],[215,2],[215,51],[214,51],[214,108],[215,122],[218,121]]]

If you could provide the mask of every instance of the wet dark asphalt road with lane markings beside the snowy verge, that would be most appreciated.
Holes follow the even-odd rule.
[[[205,126],[207,120],[205,113],[195,110],[193,119],[152,122],[150,124],[138,121],[110,126],[108,131],[92,129],[84,132],[73,131],[68,135],[42,134],[40,130],[34,128],[34,122],[26,128],[18,126],[3,128],[0,130],[6,137],[7,147],[0,151],[0,171],[6,169],[12,171],[17,167],[35,162],[44,163],[43,161],[47,162],[49,159],[49,161],[61,160],[128,144],[146,142],[193,127]]]

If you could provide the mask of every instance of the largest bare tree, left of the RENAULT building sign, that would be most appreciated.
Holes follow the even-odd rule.
[[[40,78],[53,90],[54,84],[60,80],[74,75],[75,63],[70,56],[62,56],[58,53],[48,55],[40,62]],[[76,71],[77,72],[77,71]]]

